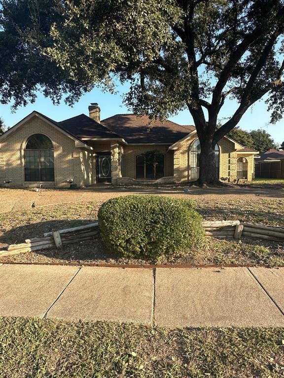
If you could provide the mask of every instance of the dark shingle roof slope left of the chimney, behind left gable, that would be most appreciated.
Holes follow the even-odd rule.
[[[120,138],[118,134],[102,126],[85,114],[58,122],[61,128],[77,138]]]

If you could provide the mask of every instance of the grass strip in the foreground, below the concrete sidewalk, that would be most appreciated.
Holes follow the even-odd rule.
[[[280,378],[284,328],[0,318],[0,377]]]

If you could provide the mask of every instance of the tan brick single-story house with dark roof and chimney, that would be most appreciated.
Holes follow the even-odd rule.
[[[89,117],[62,122],[36,111],[0,136],[0,185],[68,188],[97,183],[172,183],[199,176],[200,144],[194,126],[169,120],[149,128],[146,116],[118,114],[100,120],[97,103]],[[155,168],[144,153],[158,150]],[[229,137],[215,147],[219,178],[250,181],[257,154]]]

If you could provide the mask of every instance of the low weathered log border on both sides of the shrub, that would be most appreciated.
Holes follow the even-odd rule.
[[[215,238],[240,240],[246,237],[284,242],[284,228],[282,227],[240,221],[203,221],[202,224],[205,235]],[[26,239],[25,243],[10,245],[8,251],[0,251],[0,257],[54,247],[61,249],[68,244],[76,244],[97,237],[99,237],[98,223],[47,232],[42,238]]]

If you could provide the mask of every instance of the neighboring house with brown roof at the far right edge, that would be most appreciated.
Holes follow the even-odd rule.
[[[284,179],[284,151],[271,148],[255,159],[255,177]]]

